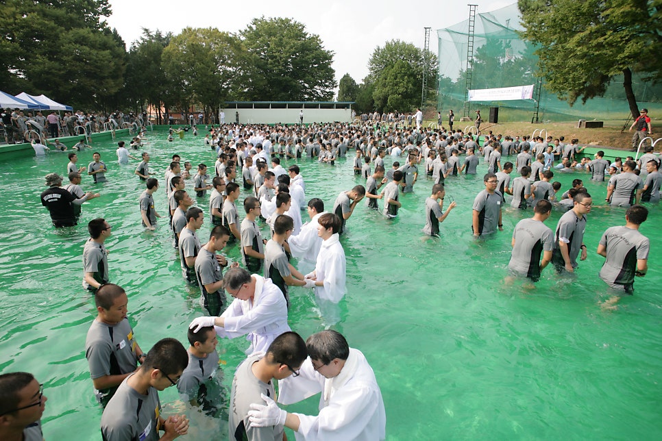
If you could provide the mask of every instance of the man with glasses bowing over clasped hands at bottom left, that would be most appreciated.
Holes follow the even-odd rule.
[[[158,392],[175,386],[188,365],[182,343],[164,338],[149,350],[143,366],[124,381],[101,416],[104,441],[174,440],[188,432],[186,415],[161,416]],[[163,436],[159,432],[165,431]]]

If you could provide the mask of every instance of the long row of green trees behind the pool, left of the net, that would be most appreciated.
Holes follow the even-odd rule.
[[[0,90],[45,94],[80,110],[218,114],[224,101],[330,101],[332,51],[290,18],[254,18],[245,29],[143,28],[126,49],[105,17],[108,0],[0,2]],[[339,101],[358,112],[410,112],[420,105],[424,69],[434,103],[437,57],[393,40],[377,47],[361,84],[340,81]],[[160,116],[160,115],[159,115]]]

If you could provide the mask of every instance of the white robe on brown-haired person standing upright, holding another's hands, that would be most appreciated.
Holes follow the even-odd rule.
[[[339,237],[336,233],[324,240],[315,261],[315,277],[324,281],[324,286],[315,286],[315,297],[334,303],[341,301],[347,292],[345,250]]]

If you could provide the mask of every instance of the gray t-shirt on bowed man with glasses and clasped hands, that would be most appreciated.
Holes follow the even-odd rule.
[[[132,374],[135,375],[135,374]],[[101,415],[101,435],[105,441],[157,441],[161,402],[155,388],[140,394],[125,378]]]

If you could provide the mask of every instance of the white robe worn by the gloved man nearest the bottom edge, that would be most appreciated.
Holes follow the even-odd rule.
[[[365,356],[350,348],[350,356],[336,377],[327,379],[312,367],[310,358],[299,377],[278,382],[278,402],[297,403],[321,392],[317,416],[299,417],[297,440],[376,441],[386,439],[386,412],[382,392]]]

